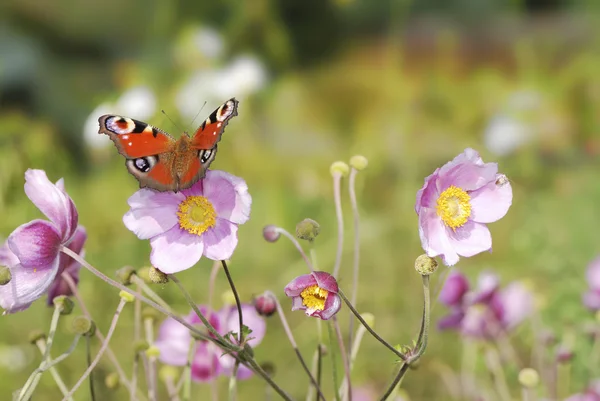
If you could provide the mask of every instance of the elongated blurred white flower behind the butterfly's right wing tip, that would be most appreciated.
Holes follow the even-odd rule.
[[[175,104],[182,116],[191,119],[205,101],[219,104],[234,96],[243,99],[262,89],[266,82],[267,72],[260,60],[243,56],[222,69],[196,71],[177,93]]]

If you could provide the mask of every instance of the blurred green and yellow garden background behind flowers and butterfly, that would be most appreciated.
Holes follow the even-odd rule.
[[[307,272],[291,244],[264,241],[266,224],[292,231],[303,218],[317,220],[314,248],[320,268],[331,270],[336,223],[329,166],[362,154],[369,167],[357,181],[363,225],[357,307],[376,316],[390,342],[409,343],[422,308],[413,270],[422,253],[415,193],[436,167],[473,147],[486,162],[499,163],[514,200],[506,218],[490,226],[493,254],[463,258],[458,267],[472,278],[494,269],[503,282],[527,283],[544,325],[560,338],[592,319],[581,293],[585,267],[600,253],[599,22],[594,0],[2,1],[0,236],[40,216],[23,192],[25,170],[39,168],[51,180],[65,178],[88,230],[90,263],[111,276],[124,265],[147,265],[148,242],[121,222],[138,183],[109,138],[97,134],[98,117],[123,114],[178,137],[235,96],[239,116],[212,168],[243,177],[253,196],[231,261],[244,300],[271,289],[289,310],[283,286]],[[343,190],[340,285],[349,292],[352,220]],[[199,303],[206,301],[210,267],[203,259],[181,274]],[[105,332],[117,291],[85,269],[80,289]],[[226,289],[220,276],[218,290]],[[171,286],[156,291],[188,313]],[[131,312],[112,342],[127,371]],[[434,307],[434,324],[444,312]],[[24,338],[47,330],[50,316],[39,301],[0,319],[0,398],[8,399],[39,363]],[[345,323],[347,311],[341,316]],[[302,313],[288,318],[310,359],[315,322]],[[275,363],[275,379],[303,399],[307,382],[298,379],[301,367],[281,325],[272,318],[268,327],[257,358]],[[528,328],[513,337],[517,350],[528,353]],[[63,323],[56,353],[70,341]],[[403,383],[412,400],[448,399],[440,372],[460,366],[459,336],[434,329],[429,343]],[[85,369],[81,347],[59,366],[67,383]],[[572,392],[590,379],[586,364],[577,363],[590,349],[578,336]],[[355,386],[381,394],[394,367],[392,355],[366,338]],[[103,387],[110,371],[103,363],[96,376],[99,399],[128,399],[125,390]],[[506,374],[518,387],[516,371]],[[226,388],[225,380],[219,383]],[[243,400],[262,399],[264,384],[252,379],[240,391]],[[87,390],[78,394],[89,397]],[[194,394],[206,399],[208,386],[196,385]],[[34,399],[60,399],[49,375]]]

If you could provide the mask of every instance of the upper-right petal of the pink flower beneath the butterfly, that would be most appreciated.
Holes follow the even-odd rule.
[[[217,216],[236,224],[248,221],[252,197],[246,181],[224,171],[209,170],[202,185],[204,196],[212,203]]]

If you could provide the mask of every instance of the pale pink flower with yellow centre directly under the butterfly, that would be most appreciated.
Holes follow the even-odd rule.
[[[128,203],[123,223],[138,238],[150,239],[150,262],[170,274],[189,269],[203,255],[229,259],[252,198],[243,179],[215,170],[181,192],[140,189]]]

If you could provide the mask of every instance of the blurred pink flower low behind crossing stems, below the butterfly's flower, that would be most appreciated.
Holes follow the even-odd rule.
[[[207,306],[199,306],[200,311],[215,330],[225,335],[230,332],[239,332],[238,314],[235,306],[226,306],[218,312],[212,312]],[[244,325],[252,332],[247,341],[252,347],[260,344],[266,333],[265,320],[258,315],[254,306],[242,304],[242,316]],[[191,312],[185,320],[190,324],[201,325],[200,319]],[[231,339],[236,339],[232,336]],[[163,363],[174,366],[183,366],[187,363],[188,352],[192,335],[189,330],[172,318],[167,318],[161,324],[156,340],[156,346],[160,350],[160,360]],[[209,341],[198,341],[196,353],[192,360],[192,379],[197,382],[207,382],[218,375],[231,376],[235,358],[225,354],[222,349]],[[239,366],[237,378],[247,379],[252,376],[252,371],[243,365]]]

